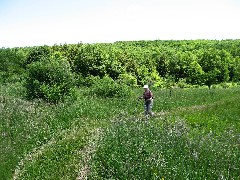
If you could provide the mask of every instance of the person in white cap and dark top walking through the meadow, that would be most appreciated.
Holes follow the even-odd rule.
[[[140,99],[144,99],[144,114],[145,116],[153,116],[154,113],[152,112],[152,106],[153,106],[153,93],[150,91],[148,85],[144,85],[143,87],[144,93],[143,96],[140,96]]]

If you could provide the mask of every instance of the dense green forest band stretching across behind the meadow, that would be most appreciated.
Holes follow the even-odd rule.
[[[1,48],[0,77],[24,82],[30,97],[105,77],[127,86],[211,88],[240,81],[239,47],[240,40],[155,40]]]

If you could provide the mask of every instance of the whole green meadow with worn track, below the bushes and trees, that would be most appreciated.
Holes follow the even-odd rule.
[[[240,179],[240,88],[153,89],[130,98],[78,89],[58,104],[0,86],[0,179]]]

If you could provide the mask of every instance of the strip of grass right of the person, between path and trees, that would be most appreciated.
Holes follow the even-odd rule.
[[[166,111],[179,107],[188,107],[195,105],[207,105],[218,103],[225,99],[234,98],[239,94],[239,88],[231,89],[211,89],[189,88],[189,89],[174,89],[172,95],[169,95],[167,89],[154,89],[155,110]]]

